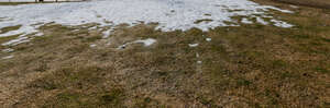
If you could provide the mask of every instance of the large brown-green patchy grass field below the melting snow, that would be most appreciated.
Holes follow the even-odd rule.
[[[109,38],[102,38],[101,31],[89,29],[96,24],[42,26],[44,36],[14,47],[0,47],[15,50],[0,52],[0,57],[14,56],[0,61],[0,105],[329,107],[330,10],[254,1],[295,11],[273,12],[295,26],[242,24],[210,32],[161,32],[154,29],[155,24],[123,24]],[[0,43],[8,38],[0,37]],[[145,38],[157,41],[148,47],[130,44],[118,49]],[[196,43],[197,47],[188,46]]]

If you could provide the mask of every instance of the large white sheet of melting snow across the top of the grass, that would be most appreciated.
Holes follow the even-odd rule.
[[[158,23],[156,28],[164,32],[187,31],[191,27],[208,31],[217,26],[239,26],[241,21],[231,17],[243,15],[256,17],[256,22],[244,19],[242,23],[245,24],[275,23],[275,26],[279,27],[293,26],[279,20],[265,21],[265,17],[273,19],[267,12],[270,10],[292,13],[288,10],[261,5],[249,0],[95,0],[88,2],[0,5],[0,29],[22,25],[18,31],[0,34],[0,37],[20,35],[16,40],[2,45],[12,45],[12,43],[16,45],[15,41],[29,41],[25,35],[37,34],[37,27],[51,22],[63,25],[99,23],[101,26],[110,27],[122,23],[133,26],[141,22],[155,22]],[[196,23],[202,20],[208,20],[208,22]],[[227,25],[224,22],[235,24]],[[110,32],[105,34],[109,35]]]

